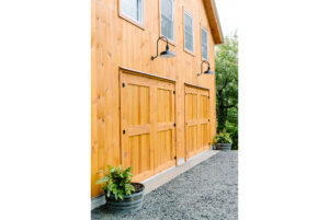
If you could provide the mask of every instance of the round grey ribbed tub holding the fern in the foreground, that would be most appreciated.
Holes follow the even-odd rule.
[[[110,197],[105,196],[106,207],[110,211],[125,213],[141,209],[145,186],[140,183],[132,183],[132,185],[136,190],[131,196],[124,196],[123,200],[120,198],[115,200],[113,194]]]

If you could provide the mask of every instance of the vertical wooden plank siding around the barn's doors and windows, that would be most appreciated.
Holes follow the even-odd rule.
[[[208,57],[215,69],[214,40],[203,0],[174,0],[174,58],[150,57],[160,35],[159,0],[144,0],[144,28],[118,16],[118,0],[91,1],[91,197],[100,194],[94,182],[105,164],[118,165],[120,67],[174,79],[177,157],[184,158],[184,82],[209,89],[211,136],[215,136],[215,77],[197,77],[201,65],[201,25],[208,31]],[[194,55],[183,49],[183,8],[194,21]],[[160,40],[159,50],[164,42]],[[204,66],[204,70],[206,66]]]

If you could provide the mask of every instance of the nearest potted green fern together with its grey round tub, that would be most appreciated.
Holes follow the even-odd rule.
[[[102,185],[105,193],[106,207],[115,212],[131,212],[139,210],[143,206],[145,186],[140,183],[132,183],[132,166],[122,170],[122,166],[100,171],[103,177],[97,184]]]

